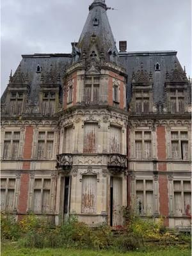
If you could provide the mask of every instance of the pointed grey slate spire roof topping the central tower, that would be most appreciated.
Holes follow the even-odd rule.
[[[87,58],[104,58],[105,61],[118,63],[118,51],[115,38],[111,31],[108,10],[104,0],[95,0],[89,6],[89,14],[84,24],[83,31],[76,45],[76,51],[80,52],[80,60],[83,60],[83,53]]]

